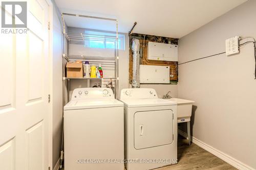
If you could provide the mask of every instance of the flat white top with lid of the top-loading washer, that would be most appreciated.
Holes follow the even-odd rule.
[[[123,103],[116,99],[77,100],[77,101],[74,100],[74,101],[70,101],[66,106],[64,106],[64,110],[118,107],[118,106],[123,106]]]

